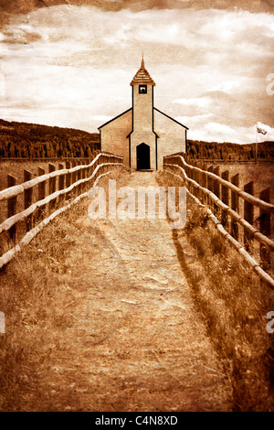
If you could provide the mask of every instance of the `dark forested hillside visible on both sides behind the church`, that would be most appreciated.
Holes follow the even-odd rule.
[[[0,158],[90,157],[99,149],[99,133],[0,119]],[[250,160],[256,144],[188,140],[187,154],[194,159]],[[258,158],[274,159],[274,142],[258,143]]]

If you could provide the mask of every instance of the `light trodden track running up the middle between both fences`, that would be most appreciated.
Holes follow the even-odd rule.
[[[154,174],[142,172],[125,185],[157,186]],[[122,297],[107,298],[121,326],[111,326],[111,338],[98,348],[110,357],[112,401],[122,410],[226,410],[224,375],[196,315],[168,221],[105,220],[97,226],[119,262],[110,275],[127,278]]]

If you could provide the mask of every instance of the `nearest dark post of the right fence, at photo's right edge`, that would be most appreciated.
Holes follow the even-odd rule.
[[[270,203],[270,188],[263,189],[259,193],[259,199]],[[271,213],[266,210],[259,210],[259,231],[265,236],[271,237]],[[271,271],[271,254],[269,247],[266,245],[259,245],[260,263],[263,270]]]

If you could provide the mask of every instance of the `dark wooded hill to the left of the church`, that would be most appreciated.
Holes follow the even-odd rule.
[[[0,119],[2,158],[90,157],[99,149],[99,133]]]

